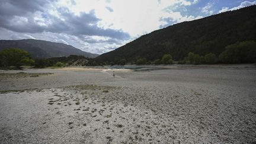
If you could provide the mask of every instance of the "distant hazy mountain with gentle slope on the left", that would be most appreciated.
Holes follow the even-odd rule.
[[[9,47],[23,49],[30,53],[30,56],[33,58],[62,57],[69,55],[81,55],[90,58],[98,56],[98,54],[84,52],[71,45],[63,43],[34,39],[0,40],[0,50]]]

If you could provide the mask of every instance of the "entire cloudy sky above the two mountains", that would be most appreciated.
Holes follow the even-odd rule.
[[[0,0],[0,39],[105,53],[168,25],[246,7],[241,0]]]

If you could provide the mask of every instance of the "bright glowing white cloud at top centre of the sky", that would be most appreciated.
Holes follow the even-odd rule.
[[[137,37],[144,33],[150,33],[164,24],[163,21],[159,21],[162,15],[168,15],[163,9],[188,6],[196,4],[199,0],[192,2],[188,0],[75,0],[76,5],[68,4],[66,1],[60,0],[59,5],[69,8],[76,15],[94,9],[96,17],[101,20],[97,24],[98,27],[123,30],[130,36]],[[113,9],[113,11],[108,8]],[[169,17],[172,15],[170,14]],[[180,18],[180,20],[183,19]]]

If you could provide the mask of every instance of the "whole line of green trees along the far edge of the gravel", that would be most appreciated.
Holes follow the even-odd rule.
[[[116,59],[113,62],[101,62],[97,59],[90,59],[84,56],[70,55],[68,57],[52,57],[48,59],[32,59],[28,52],[18,48],[9,48],[0,51],[0,66],[15,66],[20,68],[23,65],[34,66],[35,68],[45,68],[47,66],[103,66],[103,65],[160,65],[172,64],[173,59],[170,54],[164,54],[161,59],[147,60],[145,57],[139,57],[133,62],[126,59]],[[255,63],[256,62],[256,42],[241,41],[225,47],[225,50],[216,56],[214,53],[207,53],[200,56],[197,53],[189,52],[179,64],[190,63],[216,64],[216,63]]]

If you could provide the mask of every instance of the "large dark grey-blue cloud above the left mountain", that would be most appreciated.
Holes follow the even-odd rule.
[[[68,8],[59,8],[60,18],[46,14],[47,5],[52,1],[1,1],[0,27],[18,33],[66,33],[74,36],[103,36],[114,39],[129,39],[129,34],[122,30],[98,27],[100,21],[94,11],[74,15]],[[113,10],[113,9],[112,9]],[[41,12],[42,20],[37,20],[36,12]]]

